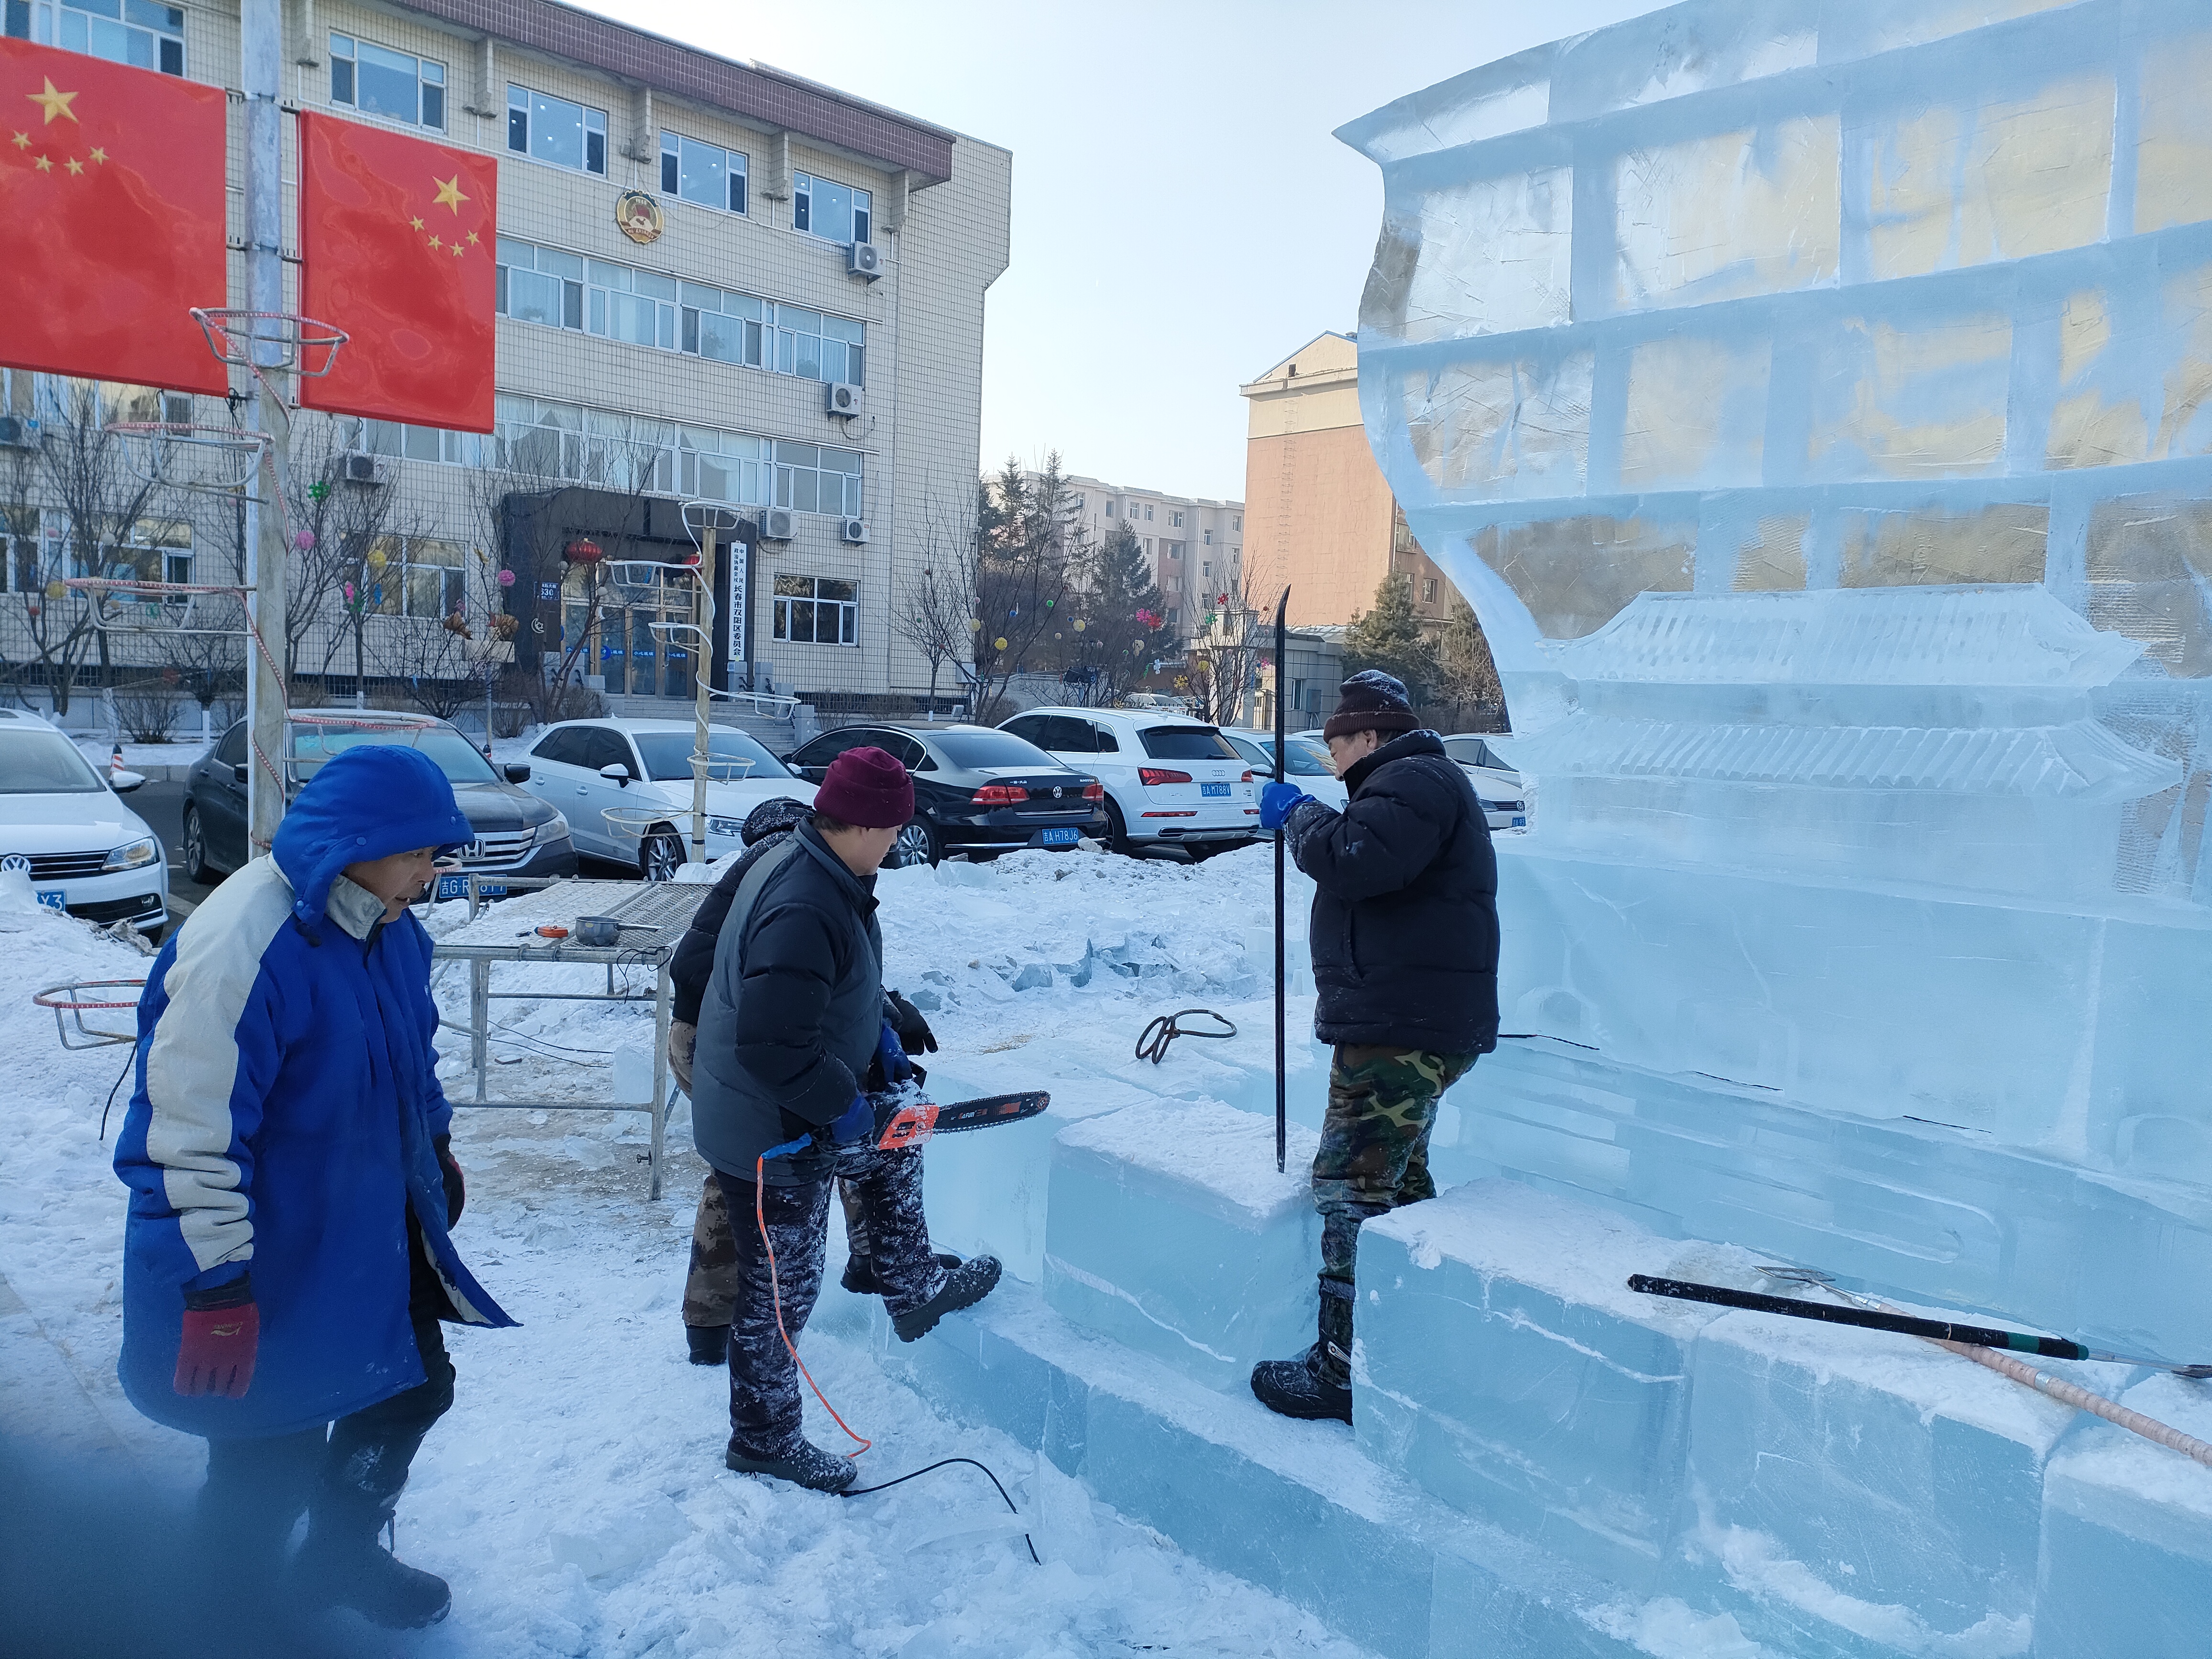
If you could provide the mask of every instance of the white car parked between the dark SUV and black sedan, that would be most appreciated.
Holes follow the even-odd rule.
[[[577,852],[670,880],[692,832],[695,745],[690,721],[562,721],[531,745],[522,787],[568,814]],[[814,805],[814,785],[745,732],[708,728],[706,856],[743,847],[745,814],[776,796]]]

